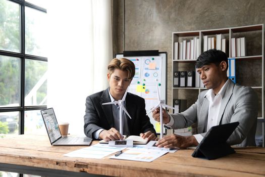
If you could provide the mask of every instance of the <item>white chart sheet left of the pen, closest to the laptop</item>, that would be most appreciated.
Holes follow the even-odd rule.
[[[125,148],[111,147],[108,146],[108,144],[96,144],[94,146],[72,151],[64,156],[101,159],[124,149]]]

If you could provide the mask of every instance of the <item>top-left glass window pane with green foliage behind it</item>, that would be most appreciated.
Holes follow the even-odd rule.
[[[20,52],[20,5],[0,0],[0,50]]]

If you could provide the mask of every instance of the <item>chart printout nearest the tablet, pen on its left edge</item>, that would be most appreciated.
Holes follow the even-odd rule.
[[[142,162],[151,162],[158,157],[167,154],[169,151],[165,150],[156,150],[156,149],[145,149],[133,147],[119,156],[111,156],[112,159],[121,159],[121,160],[133,160],[133,161],[142,161]]]

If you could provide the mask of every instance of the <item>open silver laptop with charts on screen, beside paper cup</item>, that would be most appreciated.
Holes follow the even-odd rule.
[[[62,137],[53,108],[43,109],[40,113],[52,146],[89,146],[91,144],[92,139],[88,137]]]

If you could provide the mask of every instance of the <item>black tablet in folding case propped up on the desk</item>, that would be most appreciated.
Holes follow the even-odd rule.
[[[233,122],[211,127],[192,153],[192,157],[213,160],[235,153],[235,150],[226,141],[238,124],[239,122]]]

